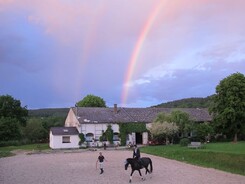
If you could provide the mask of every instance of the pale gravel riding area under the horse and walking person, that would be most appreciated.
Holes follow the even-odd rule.
[[[131,168],[124,169],[124,161],[131,151],[102,151],[105,173],[99,174],[95,163],[99,151],[57,152],[49,154],[20,154],[0,158],[0,184],[124,184],[128,183]],[[154,184],[245,184],[245,176],[215,169],[202,168],[149,156],[153,161],[153,174],[142,181],[138,172],[132,183]],[[143,171],[143,170],[142,170]],[[144,172],[142,172],[144,173]]]

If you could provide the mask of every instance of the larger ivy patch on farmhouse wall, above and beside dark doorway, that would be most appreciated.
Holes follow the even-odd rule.
[[[147,132],[145,123],[121,123],[119,124],[121,145],[125,146],[127,141],[127,134],[132,132],[142,133]]]

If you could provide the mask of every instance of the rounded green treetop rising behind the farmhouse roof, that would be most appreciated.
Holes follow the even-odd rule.
[[[103,98],[94,95],[87,95],[76,103],[78,107],[106,107]]]

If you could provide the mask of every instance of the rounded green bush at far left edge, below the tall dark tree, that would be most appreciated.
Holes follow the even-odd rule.
[[[20,123],[15,118],[0,118],[0,141],[20,140]]]

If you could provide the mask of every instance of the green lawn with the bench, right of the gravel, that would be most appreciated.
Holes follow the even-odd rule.
[[[144,153],[245,175],[245,142],[209,143],[204,149],[179,145],[147,146]]]

